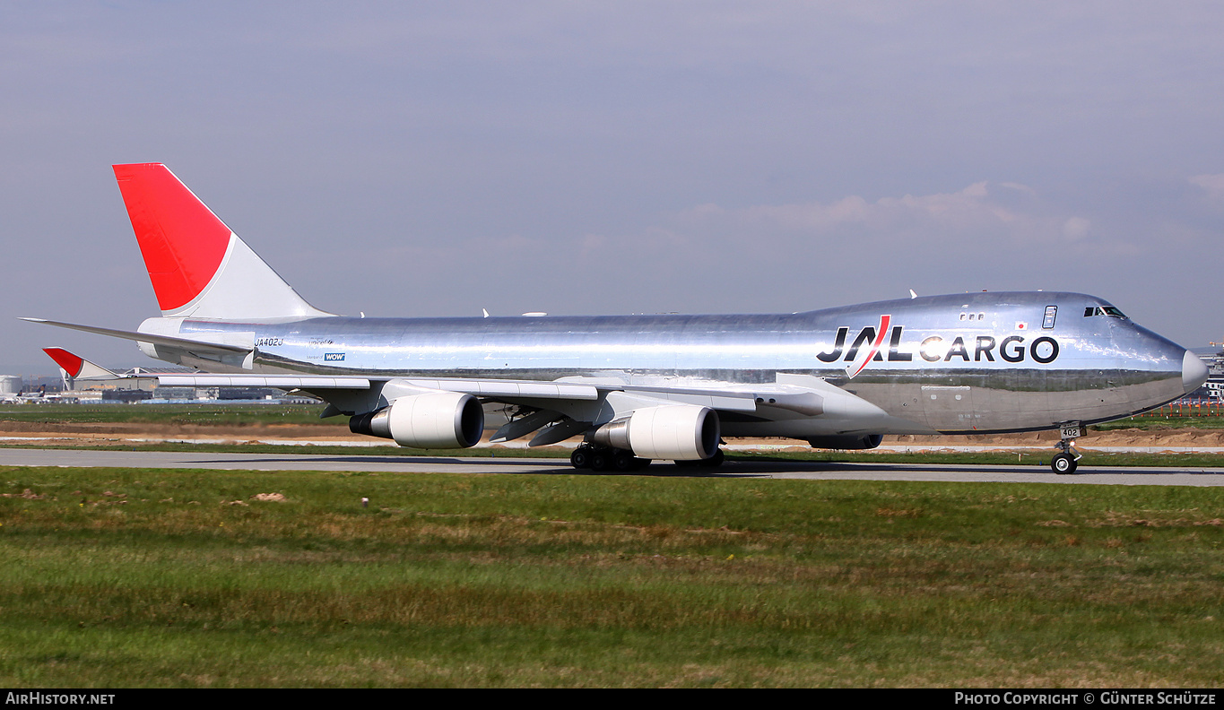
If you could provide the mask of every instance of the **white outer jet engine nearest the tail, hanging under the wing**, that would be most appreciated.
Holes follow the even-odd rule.
[[[428,392],[400,397],[378,411],[349,420],[353,433],[395,439],[420,449],[468,448],[480,442],[485,410],[470,394]]]

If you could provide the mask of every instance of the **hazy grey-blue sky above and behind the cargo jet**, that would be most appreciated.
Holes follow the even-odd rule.
[[[0,1],[0,372],[154,365],[110,165],[312,305],[1100,296],[1224,339],[1224,4]]]

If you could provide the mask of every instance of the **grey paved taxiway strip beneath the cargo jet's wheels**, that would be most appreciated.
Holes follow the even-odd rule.
[[[565,459],[513,457],[387,457],[361,454],[257,454],[203,452],[124,452],[82,449],[0,449],[5,466],[108,466],[127,469],[212,469],[253,471],[366,471],[448,474],[537,474],[590,476],[688,476],[711,479],[800,479],[860,481],[1042,482],[1131,486],[1224,486],[1224,468],[1120,468],[1081,461],[1073,475],[1045,466],[727,461],[717,469],[677,468],[656,463],[633,474],[577,471]]]

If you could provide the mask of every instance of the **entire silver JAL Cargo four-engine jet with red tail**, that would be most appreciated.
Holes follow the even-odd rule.
[[[577,468],[721,463],[722,437],[867,449],[884,435],[1058,428],[1158,406],[1202,361],[1111,304],[1071,293],[911,297],[788,315],[354,318],[315,308],[162,164],[115,165],[162,316],[137,342],[197,368],[162,384],[297,388],[354,432],[470,447],[581,435]],[[27,318],[38,321],[35,318]]]

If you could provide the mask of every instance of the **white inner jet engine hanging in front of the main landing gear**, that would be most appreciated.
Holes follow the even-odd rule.
[[[644,459],[707,459],[718,450],[718,413],[676,404],[635,409],[595,431],[595,443],[632,450]]]

